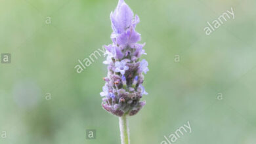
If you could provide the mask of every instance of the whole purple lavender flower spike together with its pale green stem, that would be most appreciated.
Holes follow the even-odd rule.
[[[148,62],[139,60],[145,44],[140,41],[140,33],[135,27],[140,22],[139,16],[123,0],[119,0],[116,10],[111,12],[113,33],[112,44],[105,45],[108,76],[104,78],[102,107],[109,113],[119,117],[122,144],[129,143],[127,115],[136,115],[145,105],[140,101],[142,95],[148,94],[142,86],[144,75],[147,73]]]

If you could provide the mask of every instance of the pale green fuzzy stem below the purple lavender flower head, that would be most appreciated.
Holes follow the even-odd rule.
[[[119,117],[119,127],[121,135],[121,144],[130,144],[129,128],[126,115],[123,115],[123,117]]]

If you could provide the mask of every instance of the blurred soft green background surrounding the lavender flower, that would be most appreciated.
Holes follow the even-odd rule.
[[[129,117],[131,143],[161,143],[187,121],[192,133],[177,144],[256,143],[256,1],[126,2],[140,16],[150,69],[147,103]],[[74,69],[111,43],[117,0],[0,3],[0,53],[12,56],[0,63],[0,135],[7,132],[0,143],[120,143],[118,118],[101,107],[104,56],[80,74]],[[231,7],[235,19],[205,35],[207,22]]]

